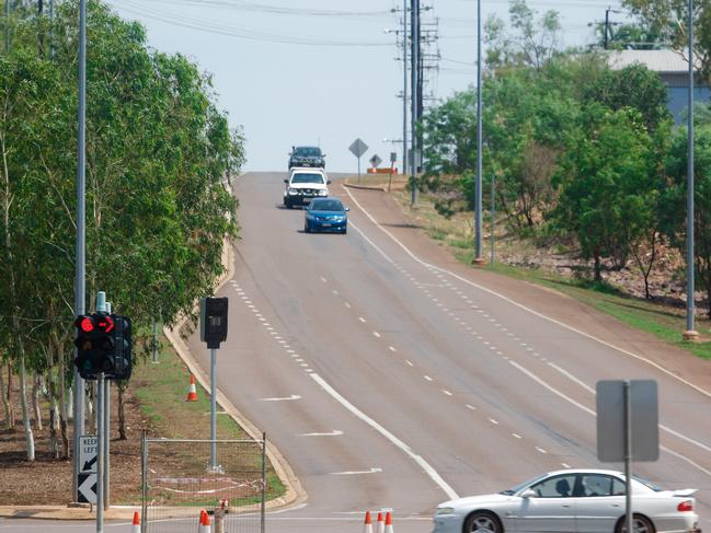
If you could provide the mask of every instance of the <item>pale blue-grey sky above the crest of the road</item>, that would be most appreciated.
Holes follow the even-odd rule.
[[[149,45],[180,53],[213,76],[218,107],[246,140],[245,171],[286,170],[291,146],[320,146],[326,170],[355,172],[348,147],[363,139],[362,159],[391,151],[401,162],[404,0],[107,0],[147,28]],[[410,3],[408,1],[408,3]],[[423,27],[438,19],[441,56],[428,70],[433,99],[475,81],[477,1],[422,0]],[[539,14],[559,11],[564,46],[594,40],[590,22],[619,0],[528,0]],[[399,12],[392,13],[391,10]],[[482,19],[508,21],[507,0],[482,0]],[[623,20],[612,13],[611,20]],[[436,103],[437,100],[433,100]],[[391,142],[395,141],[395,142]],[[387,164],[387,163],[385,163]]]

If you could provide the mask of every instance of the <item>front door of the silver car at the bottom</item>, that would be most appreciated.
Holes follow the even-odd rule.
[[[573,487],[576,474],[558,474],[539,480],[528,488],[536,496],[521,498],[516,517],[516,531],[565,532],[575,531],[575,503]]]

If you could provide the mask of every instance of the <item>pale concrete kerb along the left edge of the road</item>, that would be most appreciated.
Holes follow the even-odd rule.
[[[221,288],[227,281],[232,279],[234,276],[234,248],[232,243],[229,240],[225,241],[225,246],[222,250],[222,264],[225,265],[225,274],[219,279],[217,283],[217,289]],[[184,317],[177,322],[175,327],[169,328],[164,327],[163,333],[165,338],[171,343],[173,349],[177,356],[185,363],[191,373],[198,381],[200,386],[205,391],[209,391],[209,374],[203,370],[199,366],[192,351],[183,340],[180,335],[180,331],[187,322],[187,317]],[[217,403],[222,407],[222,409],[230,416],[232,419],[239,424],[242,429],[254,440],[262,439],[262,431],[249,420],[230,399],[225,396],[225,394],[218,389],[217,390]],[[291,505],[297,505],[305,501],[308,498],[308,495],[301,482],[294,473],[291,466],[287,463],[284,455],[277,450],[277,448],[268,442],[266,445],[266,455],[274,466],[276,475],[279,477],[282,483],[286,486],[286,494],[279,498],[275,498],[266,502],[266,508],[268,510],[285,508]]]

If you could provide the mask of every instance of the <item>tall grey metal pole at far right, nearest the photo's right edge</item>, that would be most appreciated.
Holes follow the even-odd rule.
[[[693,338],[695,331],[693,292],[693,0],[689,0],[689,112],[687,114],[688,128],[688,166],[686,186],[686,334],[685,337]]]

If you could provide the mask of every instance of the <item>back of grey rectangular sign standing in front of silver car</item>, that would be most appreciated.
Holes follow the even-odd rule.
[[[656,381],[631,380],[632,461],[660,457],[660,421]],[[626,436],[624,381],[598,381],[597,459],[606,463],[623,462]]]

